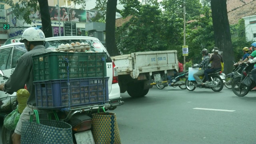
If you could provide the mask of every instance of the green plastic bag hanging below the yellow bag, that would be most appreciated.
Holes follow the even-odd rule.
[[[18,108],[16,108],[4,119],[4,127],[6,127],[8,130],[15,130],[19,119],[20,113],[18,112]]]

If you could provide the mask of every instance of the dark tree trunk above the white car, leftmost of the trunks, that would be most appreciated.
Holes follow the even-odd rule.
[[[38,0],[42,20],[42,28],[46,38],[52,37],[52,24],[47,0]]]

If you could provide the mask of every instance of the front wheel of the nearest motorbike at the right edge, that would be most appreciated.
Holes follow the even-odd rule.
[[[242,85],[241,82],[241,76],[235,77],[232,80],[232,91],[237,96],[245,96],[250,91],[250,88],[248,86]]]

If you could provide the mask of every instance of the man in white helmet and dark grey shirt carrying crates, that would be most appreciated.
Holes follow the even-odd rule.
[[[5,84],[0,85],[0,90],[12,94],[19,89],[24,88],[27,85],[30,96],[27,101],[27,106],[20,115],[20,120],[15,128],[14,134],[12,135],[13,144],[20,144],[21,137],[21,124],[24,121],[30,119],[28,112],[32,109],[37,109],[36,106],[36,96],[35,87],[33,85],[34,75],[33,75],[33,61],[32,56],[43,54],[46,52],[51,52],[44,47],[45,36],[44,32],[36,27],[27,28],[23,34],[20,42],[24,43],[25,48],[28,52],[23,54],[17,62],[14,72],[7,80]]]

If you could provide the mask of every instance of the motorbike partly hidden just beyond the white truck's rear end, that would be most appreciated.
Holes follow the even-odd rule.
[[[175,74],[174,76],[171,77],[172,82],[174,83],[171,86],[174,88],[176,86],[179,86],[180,89],[185,90],[186,89],[185,82],[186,82],[187,77],[188,77],[188,71],[179,72],[179,73]],[[162,90],[163,88],[168,86],[168,83],[170,82],[169,80],[166,80],[164,74],[162,74],[161,78],[162,78],[162,81],[156,83],[156,87],[160,90]]]

